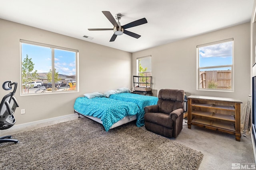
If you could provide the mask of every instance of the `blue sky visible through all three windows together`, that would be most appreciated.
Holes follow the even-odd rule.
[[[209,45],[199,48],[199,67],[221,66],[232,64],[233,41]],[[52,49],[50,47],[42,47],[22,43],[22,61],[28,55],[34,63],[34,70],[37,73],[49,72],[52,68]],[[146,59],[143,60],[147,61]],[[142,65],[148,65],[146,63]],[[59,74],[74,75],[76,74],[76,53],[72,51],[64,51],[60,49],[54,50],[54,67]],[[222,67],[221,69],[203,69],[203,70],[228,70],[230,67]],[[148,71],[151,68],[148,67]],[[201,70],[201,71],[203,71]]]

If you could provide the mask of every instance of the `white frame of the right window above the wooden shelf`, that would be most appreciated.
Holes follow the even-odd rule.
[[[216,45],[221,44],[225,42],[232,41],[232,64],[229,65],[220,65],[220,66],[207,66],[207,67],[199,67],[199,49],[200,47],[210,46],[210,45]],[[197,84],[196,84],[196,90],[205,90],[205,91],[225,91],[225,92],[234,92],[234,39],[225,39],[221,41],[216,41],[212,43],[202,44],[196,46],[196,64],[197,64]],[[223,67],[231,67],[231,89],[210,89],[210,88],[200,88],[200,69],[206,69],[206,68],[223,68]]]

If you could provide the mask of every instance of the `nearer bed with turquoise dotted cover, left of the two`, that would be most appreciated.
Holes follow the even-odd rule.
[[[136,120],[140,116],[138,105],[106,98],[104,96],[87,98],[78,97],[74,103],[75,112],[101,123],[106,131]],[[143,115],[144,116],[144,115]]]

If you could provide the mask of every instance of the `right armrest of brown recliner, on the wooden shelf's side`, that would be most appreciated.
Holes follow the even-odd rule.
[[[182,130],[183,124],[183,112],[184,109],[176,109],[170,113],[170,118],[172,119],[172,137],[177,137],[180,131]]]

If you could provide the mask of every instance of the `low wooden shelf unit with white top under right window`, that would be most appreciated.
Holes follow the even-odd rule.
[[[241,138],[240,100],[209,96],[188,96],[188,129],[191,125],[234,134]]]

